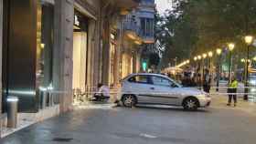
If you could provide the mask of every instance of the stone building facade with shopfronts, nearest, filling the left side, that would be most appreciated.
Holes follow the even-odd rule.
[[[0,0],[2,111],[8,96],[19,98],[20,111],[37,112],[50,95],[64,112],[72,109],[74,89],[117,84],[114,76],[124,65],[122,20],[138,4]]]

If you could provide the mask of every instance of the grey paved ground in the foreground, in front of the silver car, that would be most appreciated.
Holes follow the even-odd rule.
[[[252,144],[256,116],[236,108],[75,110],[16,132],[1,144]]]

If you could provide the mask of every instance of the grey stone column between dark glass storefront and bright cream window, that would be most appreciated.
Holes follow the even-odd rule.
[[[60,111],[72,109],[74,0],[55,1],[53,86],[59,91]]]

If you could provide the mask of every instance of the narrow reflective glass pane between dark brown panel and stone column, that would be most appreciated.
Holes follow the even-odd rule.
[[[46,91],[52,86],[54,5],[44,0],[37,5],[36,86]]]

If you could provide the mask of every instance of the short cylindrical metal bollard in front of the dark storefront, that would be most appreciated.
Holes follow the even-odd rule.
[[[7,127],[16,128],[17,125],[17,103],[18,98],[9,96],[7,98]]]

